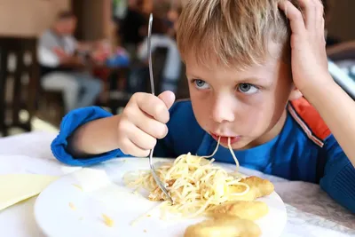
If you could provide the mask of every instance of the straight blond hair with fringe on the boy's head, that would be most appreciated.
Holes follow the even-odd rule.
[[[270,40],[280,44],[282,55],[289,55],[290,29],[279,2],[188,1],[177,27],[177,46],[182,58],[192,56],[204,65],[217,60],[225,66],[248,67],[264,62]]]

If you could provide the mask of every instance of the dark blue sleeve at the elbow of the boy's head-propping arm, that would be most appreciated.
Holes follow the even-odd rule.
[[[327,163],[320,186],[335,201],[355,213],[355,168],[333,135],[327,138],[322,149]]]

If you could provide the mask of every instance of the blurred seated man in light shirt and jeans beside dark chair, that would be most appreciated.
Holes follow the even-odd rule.
[[[72,12],[59,12],[51,28],[38,43],[38,61],[44,90],[62,91],[65,110],[95,104],[102,85],[85,67],[85,55],[93,43],[78,42],[74,35],[76,18]]]

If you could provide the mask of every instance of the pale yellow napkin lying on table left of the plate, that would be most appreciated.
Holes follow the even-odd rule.
[[[40,194],[57,178],[36,174],[0,175],[0,210]]]

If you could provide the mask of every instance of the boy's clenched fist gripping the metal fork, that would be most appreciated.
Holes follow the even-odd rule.
[[[158,97],[136,93],[124,108],[118,122],[118,146],[124,154],[144,157],[156,144],[157,138],[168,134],[166,123],[175,96],[170,91]]]

